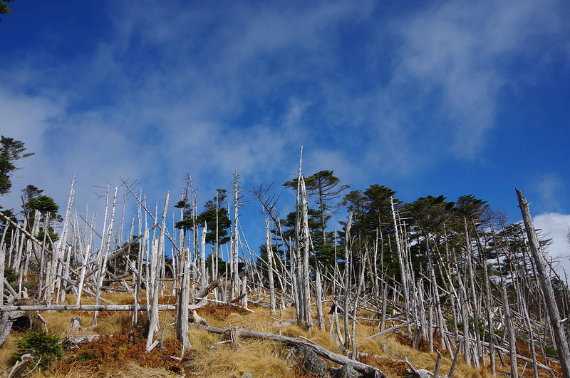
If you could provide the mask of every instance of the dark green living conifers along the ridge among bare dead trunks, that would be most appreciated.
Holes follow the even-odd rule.
[[[1,136],[0,195],[9,193],[11,189],[10,175],[18,169],[14,164],[16,160],[33,155],[25,151],[23,142]],[[197,196],[193,188],[190,190],[190,180],[190,175],[187,175],[186,188],[175,205],[175,208],[180,209],[180,220],[175,223],[175,228],[182,232],[182,240],[185,240],[186,233],[197,233],[199,228],[205,227],[206,243],[212,247],[207,255],[208,267],[214,267],[212,272],[222,272],[225,269],[225,261],[220,248],[231,240],[229,233],[234,225],[229,212],[232,204],[226,201],[227,190],[217,189],[214,198],[204,204],[202,212],[198,212]],[[349,190],[351,186],[341,183],[333,170],[313,173],[304,177],[304,182],[309,204],[307,213],[311,266],[318,265],[319,269],[332,271],[339,263],[343,264],[346,222],[338,221],[341,226],[339,230],[330,230],[329,225],[329,220],[338,215],[341,208],[352,214],[351,245],[356,245],[358,249],[380,248],[383,255],[382,266],[389,275],[396,278],[399,273],[398,260],[395,258],[393,210],[398,213],[400,234],[407,238],[415,269],[425,269],[427,245],[431,245],[432,250],[441,250],[444,240],[447,248],[465,245],[465,233],[467,236],[475,235],[472,239],[477,239],[485,245],[485,260],[494,260],[491,264],[493,277],[502,275],[510,280],[512,267],[524,264],[521,261],[521,256],[524,255],[524,237],[519,223],[508,224],[507,215],[500,210],[491,210],[487,201],[475,198],[474,195],[462,195],[455,201],[447,200],[445,195],[427,195],[411,203],[403,203],[395,197],[396,191],[385,185],[373,184],[366,190]],[[297,184],[298,180],[294,178],[286,181],[283,187],[297,190]],[[269,195],[270,189],[271,187],[264,189],[259,186],[252,190],[252,195],[261,200],[263,195]],[[19,214],[23,215],[22,220],[17,218],[18,214],[14,213],[14,209],[2,210],[0,205],[0,212],[14,222],[24,223],[26,230],[34,231],[32,235],[38,240],[45,237],[47,243],[56,241],[56,222],[62,220],[61,215],[58,215],[58,205],[35,185],[28,185],[21,192],[22,210]],[[273,195],[273,210],[276,210],[277,200],[278,197]],[[288,247],[288,240],[294,238],[296,223],[299,220],[296,219],[296,211],[288,213],[284,219],[279,219],[278,215],[273,215],[274,228],[271,228],[271,249],[275,254],[272,260],[280,259],[286,264],[284,248]],[[3,221],[0,224],[0,233],[4,233],[5,223]],[[48,230],[46,235],[44,230]],[[4,239],[7,245],[10,243],[12,231],[13,228],[10,227],[6,230]],[[541,245],[545,246],[550,242],[551,240],[544,239],[541,240]],[[509,253],[505,257],[495,258],[497,248],[509,250]],[[257,265],[260,267],[266,263],[267,250],[266,242],[259,245]],[[243,264],[240,265],[243,269]],[[559,280],[559,277],[556,280]]]

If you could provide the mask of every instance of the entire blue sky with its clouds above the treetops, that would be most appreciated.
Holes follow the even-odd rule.
[[[63,208],[137,180],[162,203],[304,171],[406,202],[472,194],[520,219],[514,188],[570,254],[566,1],[33,1],[0,23],[0,133]],[[94,193],[95,192],[95,193]],[[264,242],[259,206],[242,225]],[[568,259],[566,259],[568,260]],[[570,266],[570,260],[569,264]]]

